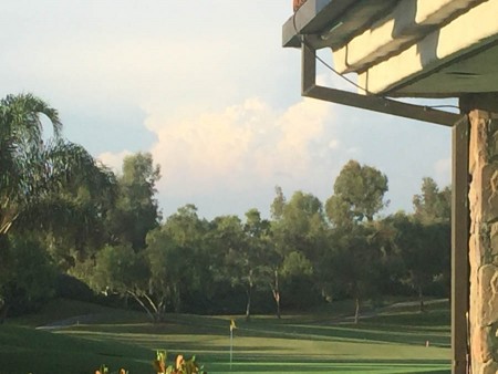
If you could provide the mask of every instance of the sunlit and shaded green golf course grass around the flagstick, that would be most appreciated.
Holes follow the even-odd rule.
[[[50,320],[49,307],[0,326],[0,374],[93,373],[101,364],[147,374],[157,349],[167,350],[170,360],[195,354],[209,373],[449,373],[447,303],[422,314],[387,308],[357,325],[330,312],[257,316],[250,323],[238,318],[231,370],[230,316],[168,315],[155,325],[141,313],[58,304],[58,318],[81,316],[84,310],[92,323],[73,319],[50,331],[19,325]]]

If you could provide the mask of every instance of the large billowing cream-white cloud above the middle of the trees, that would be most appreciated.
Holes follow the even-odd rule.
[[[325,126],[331,120],[326,103],[303,100],[279,111],[257,97],[177,121],[151,114],[146,126],[158,139],[151,152],[162,167],[159,190],[246,191],[273,185],[277,176],[303,175],[318,162],[312,148],[338,142]]]

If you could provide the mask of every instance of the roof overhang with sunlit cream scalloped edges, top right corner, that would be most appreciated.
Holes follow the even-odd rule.
[[[308,0],[284,46],[330,48],[334,69],[393,97],[498,92],[498,0]]]

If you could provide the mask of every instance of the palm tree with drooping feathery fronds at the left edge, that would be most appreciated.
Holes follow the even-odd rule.
[[[93,193],[114,185],[114,175],[61,131],[58,111],[31,94],[0,101],[0,236],[15,221],[46,224],[73,210],[64,196],[82,185]]]

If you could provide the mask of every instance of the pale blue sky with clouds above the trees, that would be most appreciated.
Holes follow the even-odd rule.
[[[413,211],[424,177],[447,186],[449,128],[300,95],[300,51],[281,46],[291,15],[291,0],[6,1],[0,96],[49,102],[116,173],[151,153],[164,217],[186,204],[269,217],[276,186],[324,204],[350,159],[387,176],[383,215]],[[318,80],[355,91],[326,67]]]

